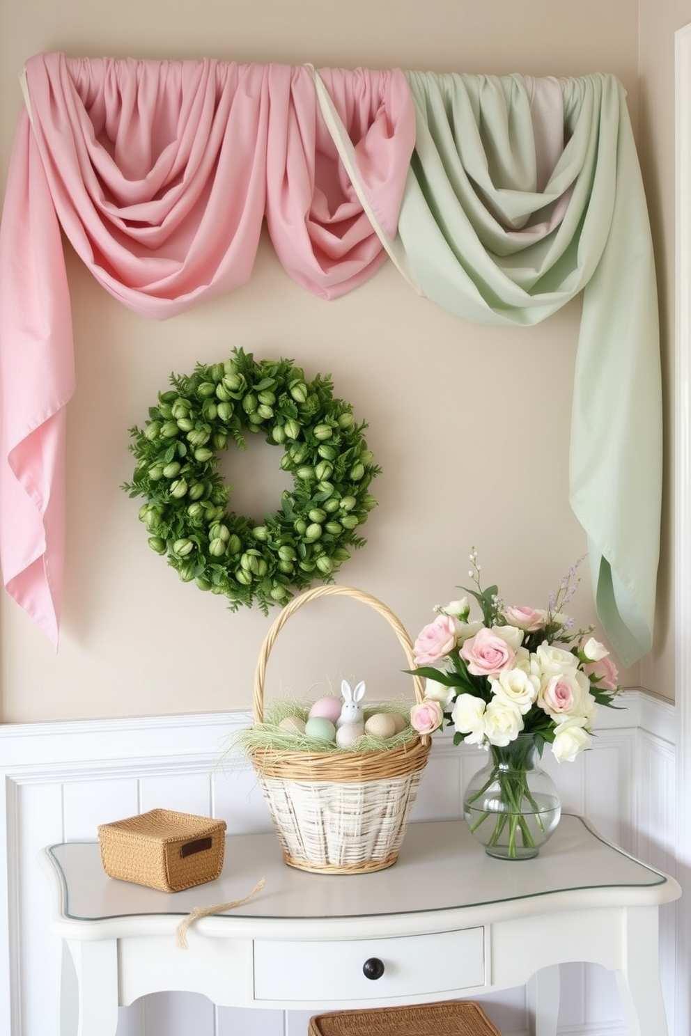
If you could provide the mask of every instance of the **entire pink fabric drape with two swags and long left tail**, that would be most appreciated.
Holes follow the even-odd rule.
[[[165,318],[243,284],[262,220],[287,272],[334,298],[385,259],[309,68],[67,59],[25,66],[0,227],[0,560],[57,646],[64,407],[75,388],[60,227],[124,305]],[[414,114],[402,71],[321,73],[357,173],[395,233]]]

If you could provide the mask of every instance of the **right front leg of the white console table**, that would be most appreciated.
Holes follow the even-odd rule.
[[[658,957],[657,906],[626,912],[623,967],[616,984],[629,1036],[667,1036]]]

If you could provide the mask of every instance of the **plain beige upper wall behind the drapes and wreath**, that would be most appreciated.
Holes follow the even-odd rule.
[[[681,4],[641,6],[640,112],[645,145],[656,149],[644,155],[644,173],[660,221],[669,386],[673,207],[661,185],[671,190],[673,181],[671,36],[684,18]],[[679,10],[661,17],[661,6]],[[353,0],[347,8],[308,0],[124,0],[103,11],[85,0],[24,0],[9,7],[0,9],[0,185],[21,103],[18,74],[23,59],[41,50],[495,74],[612,71],[629,91],[638,127],[639,26],[630,0]],[[379,508],[364,529],[367,546],[339,581],[383,599],[411,633],[430,620],[434,603],[457,596],[473,544],[488,581],[498,581],[507,600],[534,606],[546,604],[583,554],[567,501],[578,301],[531,329],[468,324],[418,298],[387,264],[366,286],[324,303],[295,286],[264,242],[246,287],[153,323],[112,299],[71,256],[68,269],[78,392],[68,416],[61,644],[55,654],[0,596],[2,721],[250,708],[270,620],[247,609],[232,614],[223,599],[179,582],[146,545],[140,501],[118,488],[132,473],[127,429],[145,420],[170,372],[223,359],[234,346],[332,373],[337,395],[370,423],[370,445],[383,467],[372,487]],[[541,443],[539,461],[527,460],[509,431],[516,412],[523,440]],[[272,509],[276,457],[254,445],[252,462],[265,471],[265,506]],[[236,510],[249,513],[260,496],[248,489],[244,458],[232,452],[224,470],[239,483]],[[667,538],[668,501],[669,489]],[[625,674],[627,684],[643,681],[665,697],[673,697],[670,550],[667,542],[655,652]],[[582,576],[572,610],[585,624],[594,614],[585,566]],[[373,697],[407,693],[408,679],[397,674],[404,664],[378,616],[353,602],[326,601],[299,611],[279,637],[268,693],[301,694],[341,675],[365,679]]]

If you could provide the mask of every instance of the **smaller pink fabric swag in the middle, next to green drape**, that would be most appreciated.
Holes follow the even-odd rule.
[[[327,68],[320,76],[354,144],[367,200],[395,236],[414,145],[410,96],[395,74],[373,79],[362,68]],[[386,253],[318,111],[311,71],[271,65],[269,83],[268,232],[290,276],[334,298],[362,284]]]

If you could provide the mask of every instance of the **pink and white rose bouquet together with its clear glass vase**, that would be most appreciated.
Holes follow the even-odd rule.
[[[464,813],[490,856],[525,859],[558,824],[560,808],[539,757],[546,744],[557,761],[572,761],[591,744],[599,706],[616,708],[618,674],[609,652],[573,630],[563,611],[575,593],[577,565],[564,577],[549,607],[505,606],[497,587],[483,589],[474,548],[468,573],[482,620],[470,618],[467,597],[437,606],[436,618],[418,636],[415,675],[425,698],[411,725],[431,733],[452,724],[454,744],[486,748],[487,767],[466,788]]]

